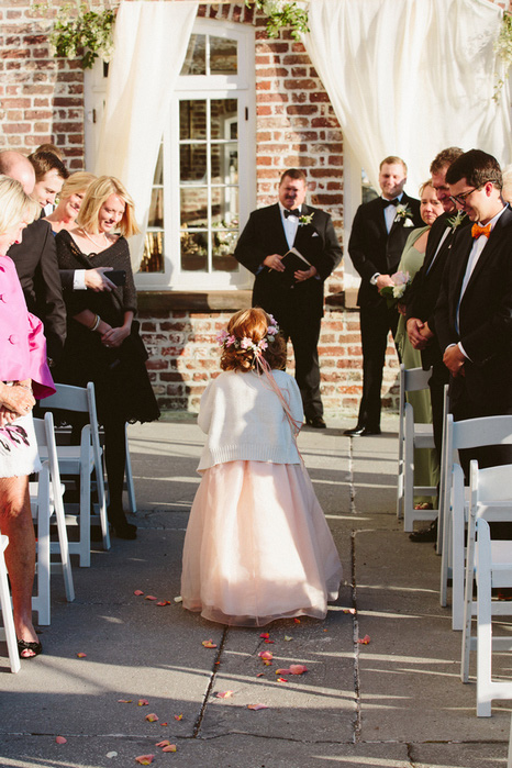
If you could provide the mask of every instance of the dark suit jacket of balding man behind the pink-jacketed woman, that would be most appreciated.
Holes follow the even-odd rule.
[[[9,256],[15,264],[29,311],[43,321],[48,357],[57,361],[66,340],[66,305],[48,222],[38,219],[23,230],[21,243],[9,248]]]

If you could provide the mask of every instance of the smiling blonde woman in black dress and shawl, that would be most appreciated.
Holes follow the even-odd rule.
[[[67,340],[55,370],[57,381],[80,387],[94,382],[105,437],[109,520],[121,538],[136,537],[122,505],[125,422],[159,416],[145,367],[147,353],[134,321],[136,291],[125,237],[137,233],[131,197],[118,179],[101,176],[87,191],[77,226],[56,236],[60,269],[113,267],[125,274],[124,283],[112,292],[65,293]]]

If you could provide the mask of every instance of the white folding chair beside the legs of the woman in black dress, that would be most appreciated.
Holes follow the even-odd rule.
[[[69,553],[79,555],[81,567],[89,567],[91,523],[101,525],[103,549],[110,549],[103,455],[98,430],[94,385],[89,381],[87,388],[84,388],[57,383],[56,390],[55,394],[43,401],[42,405],[45,410],[73,411],[89,415],[89,423],[81,431],[80,445],[57,445],[60,476],[79,476],[80,478],[80,513],[78,516],[66,515],[66,522],[79,524],[80,531],[79,541],[69,542]],[[91,476],[93,471],[96,471],[98,491],[98,514],[91,515]]]

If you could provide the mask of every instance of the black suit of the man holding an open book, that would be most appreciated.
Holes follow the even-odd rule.
[[[279,272],[261,268],[270,254],[283,256],[289,251],[278,203],[253,211],[236,245],[235,258],[256,275],[253,307],[272,314],[285,338],[291,338],[304,413],[313,419],[323,413],[316,348],[323,316],[323,285],[340,264],[342,249],[331,216],[303,204],[301,215],[310,214],[313,214],[311,224],[298,226],[293,246],[316,268],[318,277],[286,288]]]

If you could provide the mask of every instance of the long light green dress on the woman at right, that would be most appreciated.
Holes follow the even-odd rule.
[[[422,236],[424,232],[427,232],[427,226],[422,226],[418,230],[413,230],[409,235],[407,243],[404,245],[402,257],[398,266],[398,271],[409,272],[411,279],[423,265],[423,259],[425,254],[420,253],[414,247],[415,242]],[[402,363],[407,369],[409,368],[421,368],[421,353],[419,349],[414,349],[405,327],[405,318],[401,314],[398,321],[397,329],[397,346],[400,352]],[[431,424],[432,423],[432,407],[431,407],[431,392],[428,389],[423,389],[418,392],[409,392],[407,396],[407,401],[411,403],[414,411],[414,422],[416,424]],[[420,449],[414,452],[414,485],[415,486],[437,486],[439,481],[439,465],[437,461],[437,454],[432,449]],[[414,503],[420,504],[423,502],[435,502],[433,497],[414,497]]]

